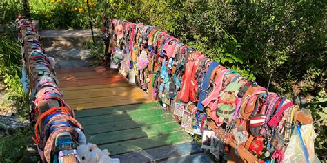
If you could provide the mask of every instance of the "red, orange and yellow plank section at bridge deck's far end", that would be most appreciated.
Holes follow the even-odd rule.
[[[56,69],[64,100],[76,110],[151,102],[148,94],[104,67]]]

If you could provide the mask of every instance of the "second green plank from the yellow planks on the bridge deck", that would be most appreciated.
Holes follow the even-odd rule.
[[[166,114],[162,109],[149,108],[145,110],[136,110],[129,113],[115,113],[110,115],[90,116],[77,118],[77,120],[85,127],[90,124],[101,124],[106,122],[115,122],[121,120],[133,120],[135,118],[144,118],[147,116],[158,116]]]

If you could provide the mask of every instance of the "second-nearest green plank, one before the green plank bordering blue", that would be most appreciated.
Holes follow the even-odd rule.
[[[181,131],[181,127],[176,122],[169,122],[164,124],[155,124],[148,127],[140,127],[137,129],[127,129],[122,131],[88,135],[86,136],[86,139],[88,140],[88,142],[92,142],[99,145],[113,142],[121,142],[123,140],[153,137],[155,135],[162,135],[174,131]]]

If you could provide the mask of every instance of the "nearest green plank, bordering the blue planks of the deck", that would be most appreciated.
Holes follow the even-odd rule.
[[[130,153],[133,151],[142,151],[157,146],[166,146],[170,144],[179,144],[183,142],[191,142],[192,138],[184,131],[176,131],[164,135],[156,135],[149,138],[140,138],[135,140],[128,140],[124,142],[116,142],[112,144],[99,145],[100,149],[108,149],[110,155],[118,155],[123,153]]]

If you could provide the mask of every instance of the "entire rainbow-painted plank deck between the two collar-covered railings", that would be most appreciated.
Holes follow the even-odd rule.
[[[121,162],[211,162],[159,102],[103,67],[56,69],[88,142]]]

